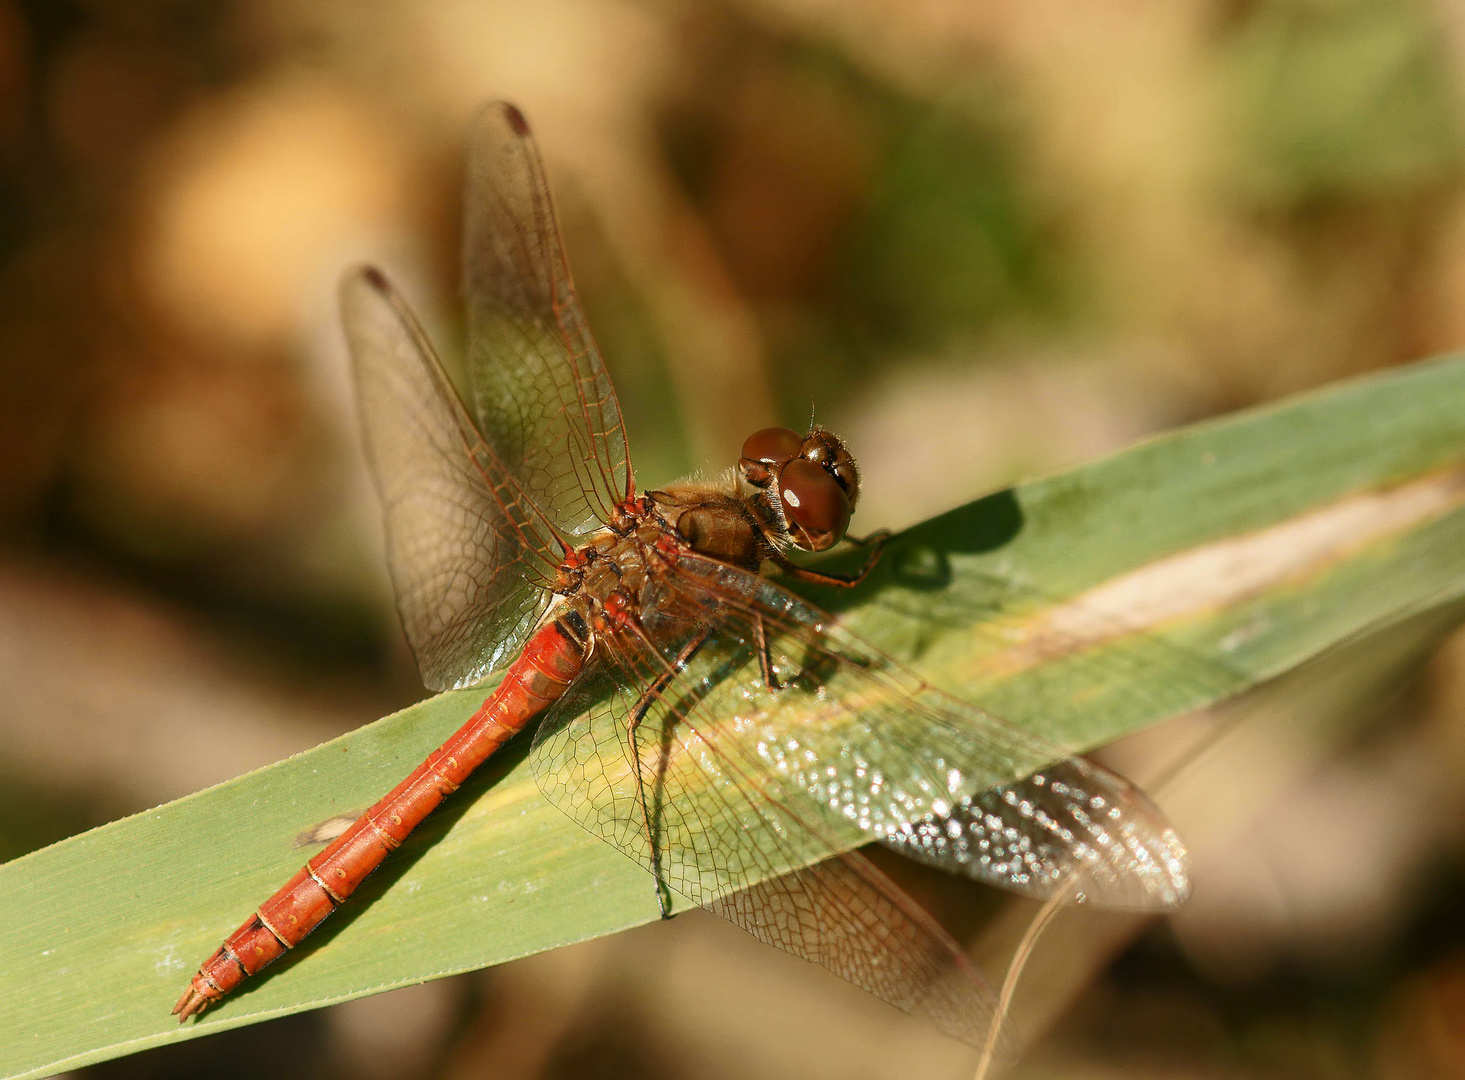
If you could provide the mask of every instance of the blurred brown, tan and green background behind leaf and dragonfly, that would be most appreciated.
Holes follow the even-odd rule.
[[[900,528],[1465,341],[1452,0],[0,0],[0,859],[420,696],[334,289],[453,324],[488,98],[643,487],[813,413]],[[1187,913],[1055,928],[1020,1076],[1465,1077],[1465,640],[1390,655],[1176,793]],[[689,916],[75,1076],[970,1068]]]

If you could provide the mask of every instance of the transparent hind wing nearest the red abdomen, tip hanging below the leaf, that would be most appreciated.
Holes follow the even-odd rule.
[[[993,1016],[987,985],[869,860],[831,857],[848,847],[845,822],[759,771],[735,739],[724,746],[690,687],[628,689],[656,680],[661,652],[599,645],[601,677],[535,740],[549,802],[687,900],[977,1045]]]

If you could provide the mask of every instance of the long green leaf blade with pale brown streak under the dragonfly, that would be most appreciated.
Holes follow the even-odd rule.
[[[1074,747],[1465,595],[1465,362],[1197,425],[902,533],[856,633]],[[1229,558],[1229,561],[1228,561]],[[649,876],[505,752],[303,948],[179,1029],[196,964],[482,700],[440,695],[0,866],[0,1074],[48,1073],[656,917]],[[919,733],[892,733],[919,737]]]

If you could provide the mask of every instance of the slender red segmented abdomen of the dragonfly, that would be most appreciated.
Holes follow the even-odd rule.
[[[560,621],[535,633],[504,681],[451,739],[308,862],[204,961],[173,1007],[179,1020],[202,1013],[299,945],[479,765],[557,702],[583,662],[583,643]]]

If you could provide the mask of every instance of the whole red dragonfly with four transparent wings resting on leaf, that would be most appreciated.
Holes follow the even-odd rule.
[[[544,796],[675,898],[979,1043],[992,994],[856,848],[1033,897],[1165,910],[1185,848],[1128,780],[946,695],[801,599],[850,541],[844,443],[766,428],[713,479],[639,492],[523,114],[469,136],[466,393],[377,268],[341,311],[398,613],[423,683],[483,705],[204,961],[180,1023],[299,945],[507,740]],[[913,725],[914,721],[914,725]],[[894,737],[919,731],[919,739]]]

